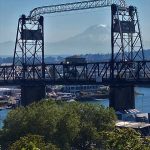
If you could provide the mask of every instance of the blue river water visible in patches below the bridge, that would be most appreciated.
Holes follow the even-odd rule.
[[[150,87],[136,87],[136,93],[139,93],[135,96],[135,107],[141,112],[150,113]],[[102,104],[106,107],[109,106],[108,99],[99,99],[95,101],[89,101],[88,103],[93,104]],[[0,128],[3,125],[3,120],[6,118],[9,110],[1,110],[0,111]]]

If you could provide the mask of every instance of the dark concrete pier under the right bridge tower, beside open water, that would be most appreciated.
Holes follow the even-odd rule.
[[[135,97],[133,85],[113,85],[110,86],[109,106],[115,111],[134,109]]]

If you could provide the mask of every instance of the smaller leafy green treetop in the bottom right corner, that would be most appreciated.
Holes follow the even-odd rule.
[[[99,140],[105,143],[106,150],[150,150],[150,139],[141,138],[140,133],[131,128],[103,132]]]

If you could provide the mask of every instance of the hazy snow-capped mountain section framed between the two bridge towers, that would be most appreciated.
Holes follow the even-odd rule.
[[[84,54],[107,53],[110,51],[110,31],[107,26],[93,25],[82,33],[68,39],[46,43],[46,53]],[[55,50],[55,52],[54,52]]]

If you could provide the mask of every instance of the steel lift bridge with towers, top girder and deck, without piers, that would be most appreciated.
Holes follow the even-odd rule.
[[[108,62],[45,64],[41,15],[111,7],[111,59]],[[1,85],[149,84],[137,8],[124,0],[89,0],[37,7],[18,20],[13,64],[0,66]]]

